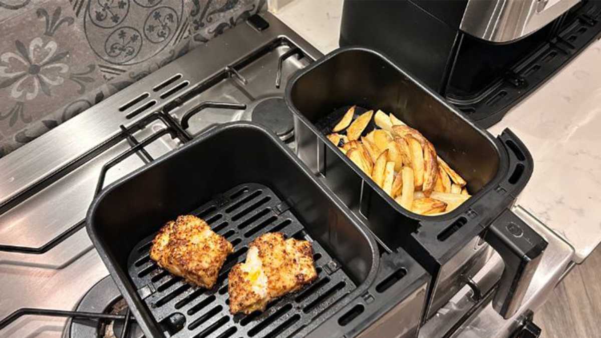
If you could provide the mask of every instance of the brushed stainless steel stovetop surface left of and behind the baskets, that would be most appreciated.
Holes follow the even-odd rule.
[[[234,120],[261,121],[290,141],[291,113],[273,112],[288,77],[321,54],[263,15],[268,29],[239,25],[2,158],[0,319],[22,308],[75,310],[95,284],[112,283],[83,229],[103,166],[106,186],[212,124]],[[80,310],[114,303],[88,298]],[[0,336],[59,337],[65,326],[64,318],[22,316]]]

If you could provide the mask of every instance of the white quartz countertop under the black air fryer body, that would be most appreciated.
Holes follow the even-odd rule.
[[[338,47],[343,0],[294,0],[275,15],[324,54]],[[601,41],[594,41],[489,131],[510,128],[534,173],[517,204],[575,250],[601,242]]]

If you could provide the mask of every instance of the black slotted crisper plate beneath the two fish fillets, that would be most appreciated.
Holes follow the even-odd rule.
[[[338,262],[313,241],[286,203],[264,185],[248,183],[234,187],[192,212],[209,223],[213,231],[234,245],[216,286],[211,290],[191,286],[182,278],[160,269],[148,256],[154,235],[141,241],[129,257],[133,284],[163,331],[173,337],[219,338],[236,336],[290,336],[317,319],[341,300],[355,283]],[[319,277],[309,286],[267,306],[265,312],[231,315],[227,275],[246,259],[248,244],[266,232],[313,242]]]

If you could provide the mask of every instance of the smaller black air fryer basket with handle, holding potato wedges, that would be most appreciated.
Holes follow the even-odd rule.
[[[483,236],[505,261],[493,305],[505,317],[519,306],[546,242],[514,215],[512,206],[532,174],[528,149],[509,130],[497,138],[379,52],[342,48],[300,70],[285,99],[294,113],[297,152],[389,250],[404,248],[433,276]],[[413,214],[399,206],[325,135],[350,105],[391,112],[418,129],[468,182],[473,195],[446,215]],[[364,135],[371,128],[366,128]]]

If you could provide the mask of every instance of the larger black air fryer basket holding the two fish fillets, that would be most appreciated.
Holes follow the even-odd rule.
[[[148,257],[157,230],[182,214],[204,218],[234,245],[211,290]],[[424,269],[402,250],[380,251],[275,135],[251,123],[212,129],[109,186],[94,201],[87,229],[148,337],[353,336],[392,308],[410,309],[401,313],[402,327],[395,322],[409,336],[425,303]],[[231,315],[227,274],[266,232],[312,241],[319,278],[263,313]]]

